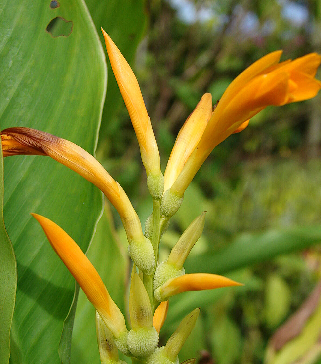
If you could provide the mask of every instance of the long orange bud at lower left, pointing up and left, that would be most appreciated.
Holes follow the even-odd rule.
[[[127,331],[125,319],[110,297],[94,266],[75,241],[57,224],[38,214],[32,214],[43,228],[50,245],[94,305],[115,337]]]

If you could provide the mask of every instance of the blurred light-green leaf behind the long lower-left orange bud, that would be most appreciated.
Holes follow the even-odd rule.
[[[128,277],[128,255],[122,251],[112,231],[107,211],[97,225],[97,231],[87,256],[102,277],[109,294],[125,313],[125,278]],[[72,338],[71,363],[99,363],[96,338],[95,308],[80,291]]]

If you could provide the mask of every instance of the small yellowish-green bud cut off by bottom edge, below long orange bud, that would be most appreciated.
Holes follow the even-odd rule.
[[[113,334],[97,311],[96,334],[101,364],[126,364],[123,360],[118,359],[118,350],[114,343]]]

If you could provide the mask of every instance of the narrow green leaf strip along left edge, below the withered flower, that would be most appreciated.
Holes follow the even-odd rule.
[[[10,329],[17,289],[17,263],[3,220],[3,158],[0,143],[0,363],[10,357]]]

